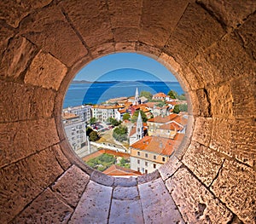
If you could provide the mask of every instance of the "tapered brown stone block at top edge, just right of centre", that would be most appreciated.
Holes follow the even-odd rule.
[[[189,1],[143,1],[139,40],[156,47],[164,47],[177,26]]]

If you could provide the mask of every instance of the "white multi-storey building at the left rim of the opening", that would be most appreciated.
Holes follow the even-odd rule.
[[[67,135],[67,140],[74,151],[86,146],[86,124],[79,115],[74,113],[62,114],[63,126]]]

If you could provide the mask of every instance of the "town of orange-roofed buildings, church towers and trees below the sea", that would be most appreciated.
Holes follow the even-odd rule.
[[[85,164],[113,176],[143,175],[165,164],[188,123],[184,95],[135,89],[96,105],[63,109],[67,139]]]

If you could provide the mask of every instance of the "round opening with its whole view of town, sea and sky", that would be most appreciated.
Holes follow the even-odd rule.
[[[84,66],[67,89],[61,118],[85,164],[124,177],[166,164],[184,145],[189,124],[187,99],[172,72],[135,53]]]

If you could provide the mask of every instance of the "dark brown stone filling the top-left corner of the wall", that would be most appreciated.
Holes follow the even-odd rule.
[[[52,0],[42,1],[23,1],[17,3],[15,1],[3,0],[0,3],[0,19],[5,20],[10,26],[17,27],[20,24],[20,20],[30,14],[34,9],[40,9],[48,5]]]

